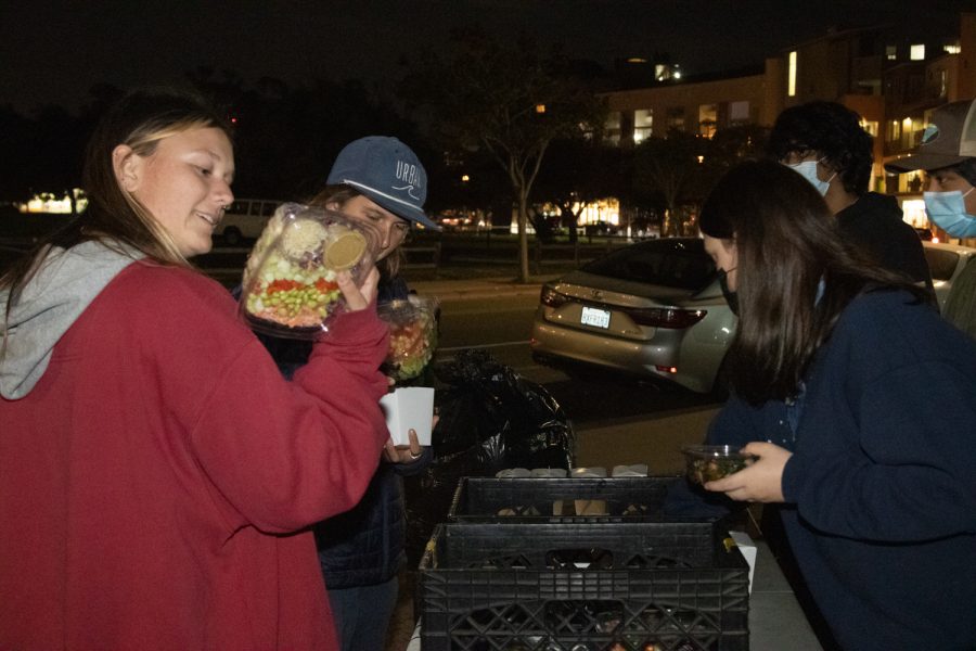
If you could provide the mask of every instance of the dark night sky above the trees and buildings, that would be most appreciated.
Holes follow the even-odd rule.
[[[95,84],[165,82],[196,66],[248,85],[361,78],[383,88],[401,76],[401,55],[472,24],[530,31],[606,68],[668,52],[696,74],[759,64],[832,25],[921,22],[924,12],[953,34],[960,10],[974,11],[973,0],[17,0],[0,9],[0,104],[75,110]]]

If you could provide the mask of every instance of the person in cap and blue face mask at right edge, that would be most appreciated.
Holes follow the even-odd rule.
[[[928,219],[953,238],[976,238],[976,100],[952,102],[933,112],[922,144],[885,165],[892,174],[921,169]],[[952,281],[943,316],[976,336],[976,264]]]

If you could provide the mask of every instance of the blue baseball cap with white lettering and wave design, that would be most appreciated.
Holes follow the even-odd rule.
[[[440,230],[423,210],[427,173],[413,150],[396,138],[354,140],[336,156],[325,182],[355,188],[397,217]]]

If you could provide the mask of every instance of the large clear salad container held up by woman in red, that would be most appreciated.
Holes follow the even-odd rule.
[[[282,204],[247,258],[240,314],[258,332],[321,337],[345,308],[336,273],[349,271],[360,284],[377,242],[373,229],[339,213]]]

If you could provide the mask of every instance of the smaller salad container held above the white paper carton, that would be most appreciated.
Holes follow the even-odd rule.
[[[389,323],[389,352],[383,365],[397,382],[420,375],[437,349],[437,309],[434,297],[411,294],[406,299],[381,304],[380,318]]]

